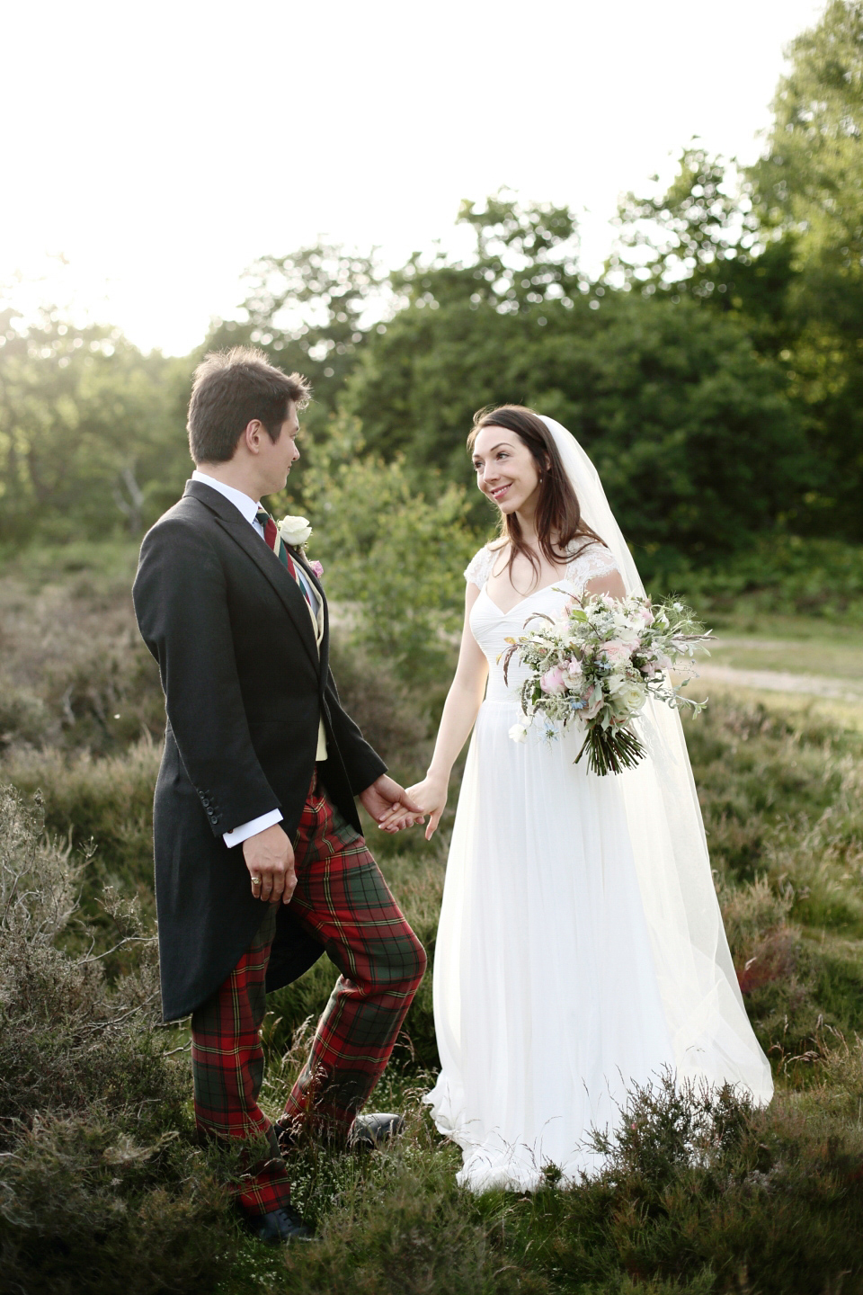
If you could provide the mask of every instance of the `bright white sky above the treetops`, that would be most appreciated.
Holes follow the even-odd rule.
[[[459,201],[501,185],[584,211],[595,269],[618,194],[692,135],[757,155],[783,48],[822,9],[5,0],[0,286],[185,354],[256,256],[457,249]]]

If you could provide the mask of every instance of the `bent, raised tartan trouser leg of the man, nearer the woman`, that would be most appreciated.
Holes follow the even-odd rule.
[[[312,781],[294,846],[292,910],[342,975],[286,1121],[347,1129],[389,1061],[426,971],[426,952],[389,894],[365,840]]]

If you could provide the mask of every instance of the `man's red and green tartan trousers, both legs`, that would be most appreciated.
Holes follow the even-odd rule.
[[[317,771],[294,843],[294,866],[292,912],[342,974],[283,1119],[347,1134],[389,1061],[426,971],[426,953],[365,840],[318,783]],[[195,1121],[202,1133],[250,1142],[245,1172],[233,1190],[251,1215],[269,1213],[290,1199],[276,1129],[257,1106],[264,1077],[264,980],[276,914],[277,905],[268,905],[250,948],[191,1015]]]

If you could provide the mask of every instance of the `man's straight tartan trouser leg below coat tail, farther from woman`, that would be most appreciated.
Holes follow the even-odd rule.
[[[195,1124],[212,1137],[257,1142],[260,1155],[246,1160],[234,1185],[238,1203],[250,1215],[286,1206],[291,1185],[276,1131],[257,1105],[264,1079],[260,1027],[267,1011],[264,979],[276,934],[276,905],[242,958],[219,989],[191,1014],[191,1076]]]

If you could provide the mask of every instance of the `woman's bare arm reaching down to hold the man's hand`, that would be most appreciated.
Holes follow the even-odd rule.
[[[458,654],[455,676],[446,694],[444,714],[437,729],[435,752],[428,765],[428,773],[422,782],[410,787],[409,791],[411,800],[424,813],[430,815],[428,826],[426,828],[426,840],[431,840],[440,822],[440,816],[446,808],[446,790],[453,764],[474,728],[479,708],[483,704],[483,694],[485,693],[488,662],[470,625],[471,607],[479,598],[479,594],[480,591],[475,584],[471,583],[467,585],[464,592],[462,646]]]

